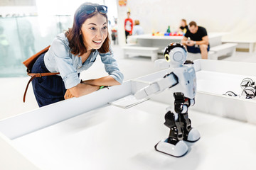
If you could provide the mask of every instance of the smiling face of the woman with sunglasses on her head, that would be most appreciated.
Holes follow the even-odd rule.
[[[81,32],[87,50],[99,49],[107,38],[107,18],[97,13],[82,23]]]

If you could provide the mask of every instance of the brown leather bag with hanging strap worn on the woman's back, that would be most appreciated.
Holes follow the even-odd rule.
[[[40,52],[36,53],[36,55],[33,55],[31,57],[29,57],[26,61],[23,62],[23,64],[27,67],[27,74],[28,76],[31,77],[31,79],[29,79],[28,84],[26,86],[26,90],[24,92],[23,95],[23,102],[25,102],[25,98],[26,98],[26,92],[28,91],[28,85],[30,84],[30,82],[35,79],[36,77],[43,77],[43,76],[53,76],[56,74],[60,74],[59,72],[49,72],[49,73],[31,73],[31,69],[33,67],[33,64],[36,62],[36,60],[38,59],[39,56],[41,56],[43,53],[46,53],[49,50],[49,47],[46,47],[45,49],[41,50]]]

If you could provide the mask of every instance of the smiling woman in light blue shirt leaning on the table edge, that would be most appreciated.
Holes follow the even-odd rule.
[[[80,80],[80,72],[91,67],[97,55],[100,55],[109,75]],[[64,98],[90,94],[101,86],[122,84],[123,74],[110,50],[107,6],[82,4],[75,11],[73,27],[57,35],[48,52],[33,64],[31,72],[60,72],[59,75],[33,79],[33,92],[40,107]]]

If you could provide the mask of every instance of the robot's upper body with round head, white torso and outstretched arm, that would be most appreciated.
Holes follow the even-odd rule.
[[[134,96],[136,98],[144,98],[178,84],[174,88],[174,92],[182,92],[187,98],[194,98],[196,94],[196,72],[193,67],[183,65],[186,61],[186,56],[187,52],[183,45],[179,43],[168,45],[164,50],[164,58],[173,72],[166,74],[163,78],[156,79],[149,86],[137,91]],[[159,62],[158,64],[164,64],[164,62]]]

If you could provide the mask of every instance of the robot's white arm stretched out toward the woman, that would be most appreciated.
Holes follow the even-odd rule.
[[[137,99],[145,98],[146,96],[150,96],[151,94],[157,94],[165,89],[171,88],[178,84],[178,77],[174,72],[166,74],[163,78],[157,79],[149,86],[140,89],[134,94]]]

